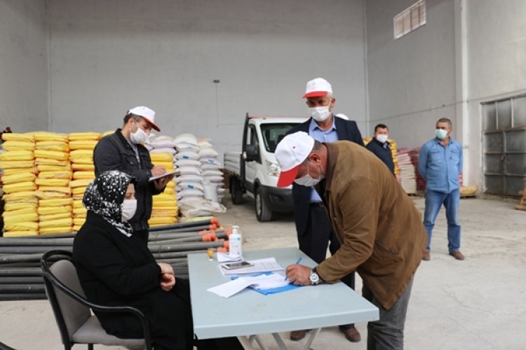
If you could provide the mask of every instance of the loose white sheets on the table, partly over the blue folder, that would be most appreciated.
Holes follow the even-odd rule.
[[[238,279],[208,288],[207,290],[220,297],[231,297],[248,286],[253,286],[257,289],[271,289],[287,286],[289,283],[289,281],[285,281],[285,276],[281,274],[260,274],[259,276],[239,277]]]

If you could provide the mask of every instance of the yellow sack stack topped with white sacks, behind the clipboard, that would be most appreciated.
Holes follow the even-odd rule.
[[[151,139],[147,148],[150,151],[151,162],[173,172],[175,169],[174,155],[176,153],[173,139],[166,136]],[[148,224],[152,227],[160,225],[173,225],[177,223],[179,208],[175,200],[175,182],[169,181],[163,193],[154,195],[151,208],[151,217]]]

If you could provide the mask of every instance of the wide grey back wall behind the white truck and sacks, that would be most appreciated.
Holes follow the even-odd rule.
[[[246,112],[307,116],[318,76],[365,126],[360,0],[49,0],[48,18],[52,131],[114,130],[144,104],[161,134],[238,151]]]

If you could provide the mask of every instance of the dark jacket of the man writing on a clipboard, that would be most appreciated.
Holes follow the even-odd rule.
[[[95,163],[95,176],[99,176],[108,170],[120,170],[137,179],[135,186],[135,198],[137,199],[137,211],[129,221],[134,231],[148,230],[148,220],[151,216],[152,195],[162,191],[155,188],[154,183],[148,181],[151,177],[151,158],[148,150],[137,145],[140,162],[137,161],[135,152],[130,146],[121,129],[114,134],[103,137],[93,150],[93,162]]]

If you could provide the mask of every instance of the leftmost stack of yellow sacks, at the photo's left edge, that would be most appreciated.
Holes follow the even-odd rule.
[[[32,134],[2,134],[4,152],[0,153],[0,168],[4,169],[4,237],[39,234],[36,212],[36,169]]]

